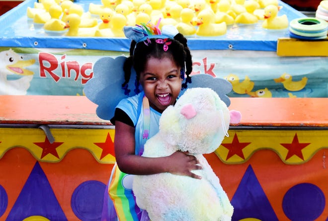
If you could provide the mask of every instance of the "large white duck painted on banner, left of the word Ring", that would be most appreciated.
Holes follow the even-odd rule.
[[[25,69],[35,63],[34,59],[23,60],[12,49],[0,52],[0,94],[26,95],[34,72]],[[7,75],[20,75],[16,80],[8,80]]]

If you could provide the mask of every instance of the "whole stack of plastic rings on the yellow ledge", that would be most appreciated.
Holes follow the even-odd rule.
[[[327,34],[328,23],[320,18],[296,18],[289,23],[289,36],[291,38],[319,40],[326,39]]]

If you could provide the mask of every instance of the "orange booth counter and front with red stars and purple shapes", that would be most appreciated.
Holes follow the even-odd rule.
[[[85,96],[0,96],[0,219],[100,220],[115,129]],[[205,155],[234,221],[328,218],[327,98],[231,98],[242,120]]]

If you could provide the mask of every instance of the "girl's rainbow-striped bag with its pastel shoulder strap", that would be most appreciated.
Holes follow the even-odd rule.
[[[149,138],[150,129],[150,106],[146,96],[143,97],[143,144],[140,144],[139,156],[144,152],[144,144]],[[123,187],[124,179],[129,174],[122,172],[115,164],[109,184],[108,194],[112,199],[119,221],[139,221],[141,219],[141,209],[136,204],[132,189]]]

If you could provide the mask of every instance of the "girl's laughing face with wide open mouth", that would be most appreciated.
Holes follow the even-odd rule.
[[[150,107],[162,113],[174,105],[181,91],[180,69],[169,57],[148,58],[145,70],[140,73],[140,84]]]

